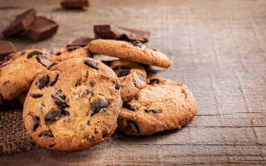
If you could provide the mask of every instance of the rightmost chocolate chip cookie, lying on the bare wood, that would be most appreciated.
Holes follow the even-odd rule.
[[[129,136],[180,129],[197,112],[197,102],[179,82],[150,76],[147,86],[130,102],[124,102],[118,116],[118,129]]]

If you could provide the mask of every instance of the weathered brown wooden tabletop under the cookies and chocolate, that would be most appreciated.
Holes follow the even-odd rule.
[[[77,152],[39,148],[0,157],[0,165],[266,165],[266,1],[95,0],[64,10],[55,0],[0,1],[0,31],[34,7],[60,23],[42,42],[10,38],[17,50],[53,52],[94,24],[151,30],[148,46],[166,53],[161,77],[182,82],[198,103],[181,130],[148,137],[116,132],[102,145]]]

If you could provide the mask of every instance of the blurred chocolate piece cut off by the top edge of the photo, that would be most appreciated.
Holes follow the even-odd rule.
[[[90,6],[91,2],[89,0],[62,0],[60,4],[64,8],[83,8]]]

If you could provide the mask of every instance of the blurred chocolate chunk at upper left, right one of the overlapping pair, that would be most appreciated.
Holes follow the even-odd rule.
[[[57,24],[57,22],[53,21],[52,19],[48,19],[44,16],[39,16],[36,17],[33,24],[30,24],[30,26],[28,27],[28,37],[35,41],[46,39],[48,37],[51,37],[52,35],[55,35],[58,27],[59,24]]]

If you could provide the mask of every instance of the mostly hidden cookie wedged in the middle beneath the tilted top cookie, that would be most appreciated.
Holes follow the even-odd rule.
[[[140,64],[127,60],[115,60],[109,66],[114,70],[120,82],[121,99],[130,100],[143,89],[146,84],[145,68]]]

